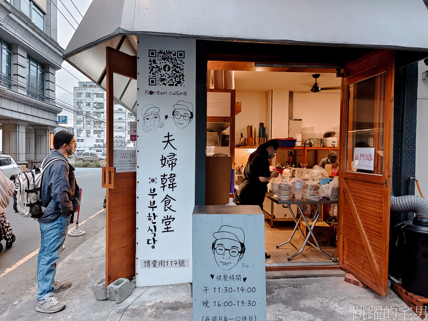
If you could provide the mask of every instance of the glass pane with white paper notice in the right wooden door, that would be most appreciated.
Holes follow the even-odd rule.
[[[345,170],[382,174],[386,73],[348,85]]]

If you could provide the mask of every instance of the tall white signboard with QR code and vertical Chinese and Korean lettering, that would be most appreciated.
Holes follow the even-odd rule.
[[[192,281],[194,39],[140,36],[137,286]]]

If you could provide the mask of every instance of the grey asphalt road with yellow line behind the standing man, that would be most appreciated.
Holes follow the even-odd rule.
[[[77,168],[77,184],[82,189],[79,222],[103,209],[105,189],[101,187],[101,168]],[[37,249],[40,247],[40,230],[37,221],[16,214],[13,200],[6,209],[6,216],[12,225],[16,241],[11,249],[0,253],[0,319],[10,304],[19,302],[21,294],[37,283]],[[75,224],[70,225],[75,226]],[[105,226],[105,212],[87,220],[80,229],[86,235],[66,237],[62,258],[79,244],[99,232]],[[2,241],[5,246],[5,241]],[[17,264],[21,263],[19,266]]]

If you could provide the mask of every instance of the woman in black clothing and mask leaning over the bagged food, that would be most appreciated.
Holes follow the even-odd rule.
[[[269,159],[273,158],[279,149],[276,140],[268,140],[257,147],[248,158],[239,190],[235,200],[241,205],[259,205],[263,210],[263,200],[269,180],[278,177],[278,172],[269,170]],[[266,259],[271,255],[265,253]]]

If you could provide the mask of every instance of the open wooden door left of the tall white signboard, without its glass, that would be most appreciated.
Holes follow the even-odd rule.
[[[107,166],[103,168],[106,188],[105,284],[135,276],[136,259],[136,172],[117,173],[114,167],[114,74],[137,79],[137,57],[106,49]]]

